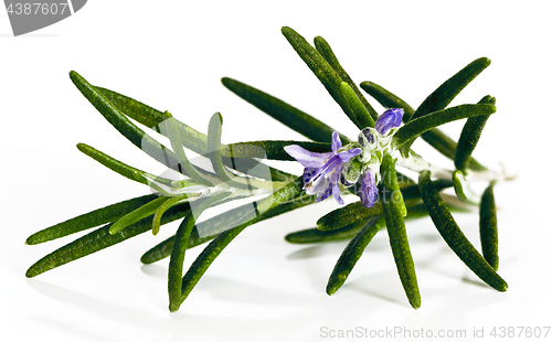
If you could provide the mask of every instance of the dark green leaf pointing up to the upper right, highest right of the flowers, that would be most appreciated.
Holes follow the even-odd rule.
[[[420,105],[412,115],[411,120],[423,117],[433,111],[444,109],[474,78],[477,77],[487,66],[490,60],[487,57],[477,58],[466,65],[461,71],[443,83],[435,92]]]

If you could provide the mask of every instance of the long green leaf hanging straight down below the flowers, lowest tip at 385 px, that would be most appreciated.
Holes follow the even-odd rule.
[[[388,226],[389,241],[393,257],[396,264],[396,270],[403,285],[408,302],[414,309],[420,308],[422,298],[417,286],[416,270],[412,259],[406,228],[404,226],[404,216],[406,207],[399,191],[399,183],[395,173],[395,162],[391,154],[383,157],[381,173],[383,178],[384,193],[391,193],[389,199],[383,199],[383,214],[385,215],[385,225]]]

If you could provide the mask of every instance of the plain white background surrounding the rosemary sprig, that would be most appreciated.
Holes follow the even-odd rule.
[[[0,14],[2,341],[325,341],[331,339],[322,331],[357,327],[466,330],[467,338],[444,341],[469,341],[474,329],[489,336],[493,327],[552,325],[544,164],[552,76],[548,1],[199,3],[88,1],[75,15],[20,38]],[[346,243],[301,246],[283,237],[312,227],[337,207],[332,200],[247,228],[177,313],[168,311],[167,260],[139,263],[176,224],[163,226],[160,236],[144,234],[25,279],[30,265],[73,239],[25,246],[29,235],[149,191],[79,153],[77,142],[152,173],[163,171],[95,111],[71,83],[71,70],[94,85],[168,109],[200,131],[221,111],[223,142],[304,139],[226,90],[223,76],[354,137],[354,126],[280,34],[283,25],[310,42],[322,35],[357,83],[379,83],[414,107],[473,60],[492,60],[452,105],[497,97],[498,111],[475,156],[518,175],[496,189],[499,272],[508,292],[481,286],[425,220],[407,224],[421,309],[406,301],[384,232],[347,284],[328,297],[326,281]],[[457,137],[461,124],[446,130]],[[424,143],[417,150],[452,167]],[[457,221],[479,246],[477,214]],[[188,253],[184,267],[199,252]]]

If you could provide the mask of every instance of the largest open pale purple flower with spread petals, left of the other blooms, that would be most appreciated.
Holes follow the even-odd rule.
[[[284,150],[305,167],[302,173],[302,189],[307,194],[317,194],[317,202],[327,199],[333,194],[339,204],[344,204],[339,190],[339,178],[343,164],[351,158],[358,156],[362,150],[360,148],[339,152],[341,140],[338,132],[331,135],[332,152],[316,153],[310,152],[298,145],[289,145]]]

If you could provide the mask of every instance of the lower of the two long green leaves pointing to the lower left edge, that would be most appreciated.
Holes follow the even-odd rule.
[[[190,213],[190,206],[188,205],[188,203],[173,206],[163,215],[161,224],[167,224],[174,220],[181,218],[188,213]],[[76,260],[104,248],[110,247],[138,234],[145,233],[151,229],[152,217],[153,216],[151,215],[142,218],[127,226],[126,229],[120,231],[119,233],[114,235],[109,234],[109,227],[112,226],[112,224],[107,224],[100,228],[97,228],[46,255],[34,265],[32,265],[26,270],[25,276],[28,278],[35,277],[50,269]]]

